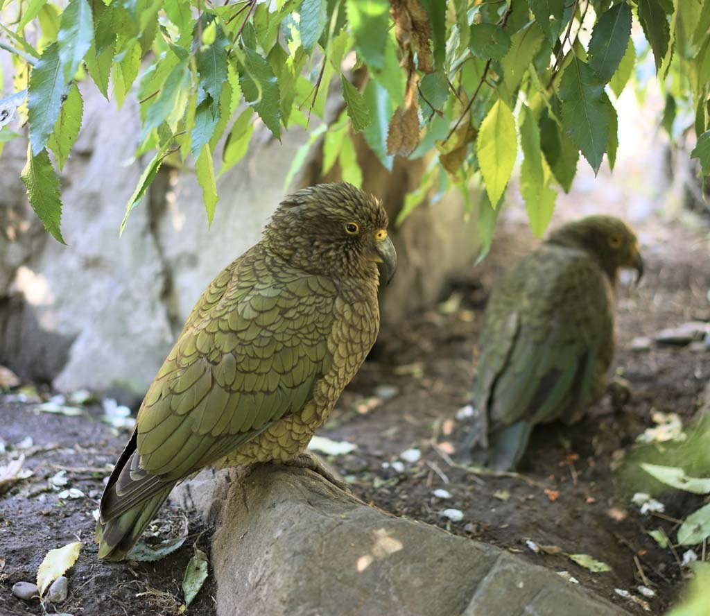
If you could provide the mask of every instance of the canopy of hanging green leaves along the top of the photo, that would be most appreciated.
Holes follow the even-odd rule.
[[[354,133],[386,168],[394,156],[428,156],[398,222],[427,196],[457,186],[469,199],[471,181],[481,182],[484,247],[522,158],[520,192],[540,235],[580,153],[595,173],[605,156],[613,168],[613,100],[630,82],[643,97],[654,70],[662,126],[674,139],[694,131],[692,157],[710,174],[710,2],[0,0],[0,11],[0,47],[15,67],[0,128],[16,114],[28,126],[21,178],[60,242],[57,169],[80,130],[77,82],[87,78],[119,105],[140,102],[135,156],[148,163],[121,230],[163,163],[195,166],[211,222],[216,178],[261,123],[276,139],[294,124],[315,126],[287,188],[320,138],[323,172],[337,164],[356,185]],[[333,85],[344,100],[334,118],[325,106]],[[19,137],[1,129],[0,148]]]

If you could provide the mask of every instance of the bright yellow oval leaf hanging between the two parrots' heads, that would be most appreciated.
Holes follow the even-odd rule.
[[[491,204],[498,203],[513,173],[518,139],[510,107],[498,99],[481,123],[476,154]]]

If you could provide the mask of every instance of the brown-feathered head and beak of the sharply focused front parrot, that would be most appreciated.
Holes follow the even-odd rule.
[[[264,231],[269,249],[315,274],[391,281],[397,253],[382,204],[348,183],[318,184],[283,200]]]

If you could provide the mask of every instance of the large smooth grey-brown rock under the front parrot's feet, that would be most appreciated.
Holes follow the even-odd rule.
[[[204,472],[219,616],[626,614],[501,549],[366,506],[307,470]]]

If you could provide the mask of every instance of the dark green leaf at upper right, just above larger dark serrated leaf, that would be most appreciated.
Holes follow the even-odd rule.
[[[626,53],[631,35],[631,8],[620,2],[596,22],[589,41],[589,66],[604,82],[611,80]]]

